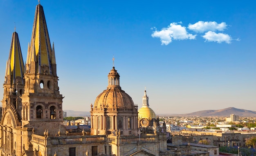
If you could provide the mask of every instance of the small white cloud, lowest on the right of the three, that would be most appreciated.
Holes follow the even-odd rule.
[[[226,42],[228,44],[231,43],[232,38],[225,33],[215,33],[212,31],[208,31],[202,36],[205,39],[205,42]]]

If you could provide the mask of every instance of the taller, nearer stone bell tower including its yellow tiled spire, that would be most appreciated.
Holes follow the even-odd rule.
[[[52,133],[58,132],[63,123],[63,97],[58,88],[54,44],[51,47],[43,6],[40,4],[36,6],[24,80],[22,125],[34,127],[39,134],[49,127]]]

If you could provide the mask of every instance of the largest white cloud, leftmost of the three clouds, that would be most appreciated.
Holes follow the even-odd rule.
[[[182,22],[179,22],[180,24]],[[151,36],[159,37],[162,45],[168,45],[172,40],[194,40],[196,35],[189,34],[186,31],[186,27],[181,26],[175,22],[171,23],[167,28],[163,28],[161,31],[155,30]]]

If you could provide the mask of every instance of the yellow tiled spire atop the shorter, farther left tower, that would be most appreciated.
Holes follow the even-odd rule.
[[[6,64],[6,82],[9,84],[16,83],[16,77],[21,77],[21,83],[24,84],[23,80],[24,74],[24,62],[22,58],[21,48],[20,48],[20,41],[18,37],[18,33],[13,32],[11,38],[11,47],[9,58]]]

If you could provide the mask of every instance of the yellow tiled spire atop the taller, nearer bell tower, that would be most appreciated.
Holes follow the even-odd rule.
[[[27,72],[56,75],[56,70],[52,70],[52,63],[55,63],[55,54],[52,53],[43,6],[39,3],[36,6],[30,48],[28,49]]]

